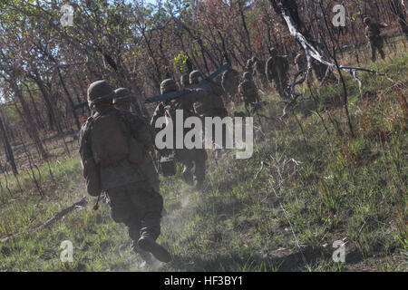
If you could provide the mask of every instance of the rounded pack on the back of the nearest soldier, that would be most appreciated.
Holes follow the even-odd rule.
[[[117,164],[129,154],[125,128],[115,113],[98,116],[92,122],[92,155],[102,167]]]

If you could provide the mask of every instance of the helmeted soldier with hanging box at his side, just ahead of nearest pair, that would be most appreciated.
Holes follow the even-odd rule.
[[[172,79],[164,80],[160,83],[160,93],[169,93],[169,92],[177,92],[179,91],[179,87],[177,83],[174,82]],[[183,119],[190,116],[194,116],[193,112],[193,103],[196,102],[198,99],[203,99],[206,97],[206,92],[203,90],[189,90],[184,89],[185,93],[182,94],[180,97],[167,101],[167,102],[160,102],[159,105],[156,107],[156,110],[153,113],[151,118],[151,126],[154,127],[156,121],[160,117],[164,116],[173,116],[176,110],[183,111]],[[171,118],[174,122],[174,118]],[[173,148],[176,148],[176,126],[173,124]],[[160,130],[160,129],[159,129]],[[189,129],[185,128],[183,132],[183,138],[185,134],[189,131]],[[168,150],[166,150],[168,153]],[[194,184],[194,177],[197,180],[197,188],[200,188],[204,182],[205,174],[206,174],[206,160],[207,160],[207,152],[204,149],[175,149],[175,159],[179,161],[183,165],[183,179],[189,185]],[[195,166],[194,173],[193,167]]]

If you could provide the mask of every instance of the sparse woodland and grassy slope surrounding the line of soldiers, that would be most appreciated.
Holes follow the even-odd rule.
[[[61,23],[63,5],[73,7],[72,26]],[[345,6],[344,27],[332,23],[335,5]],[[335,63],[338,82],[297,82],[304,47],[285,13]],[[203,193],[180,172],[162,179],[169,216],[160,238],[175,259],[158,269],[406,271],[407,14],[401,0],[0,1],[0,239],[26,233],[0,242],[0,271],[140,271],[118,254],[130,245],[109,208],[82,208],[29,234],[86,195],[77,132],[90,114],[78,106],[88,85],[130,87],[149,118],[154,106],[144,101],[162,80],[209,75],[226,61],[242,74],[271,47],[288,57],[290,100],[273,86],[263,92],[254,157],[211,156]],[[366,16],[388,24],[386,58],[376,63]],[[362,68],[360,83],[341,66]],[[81,245],[71,266],[58,260],[63,239]],[[331,261],[339,239],[351,264]]]

